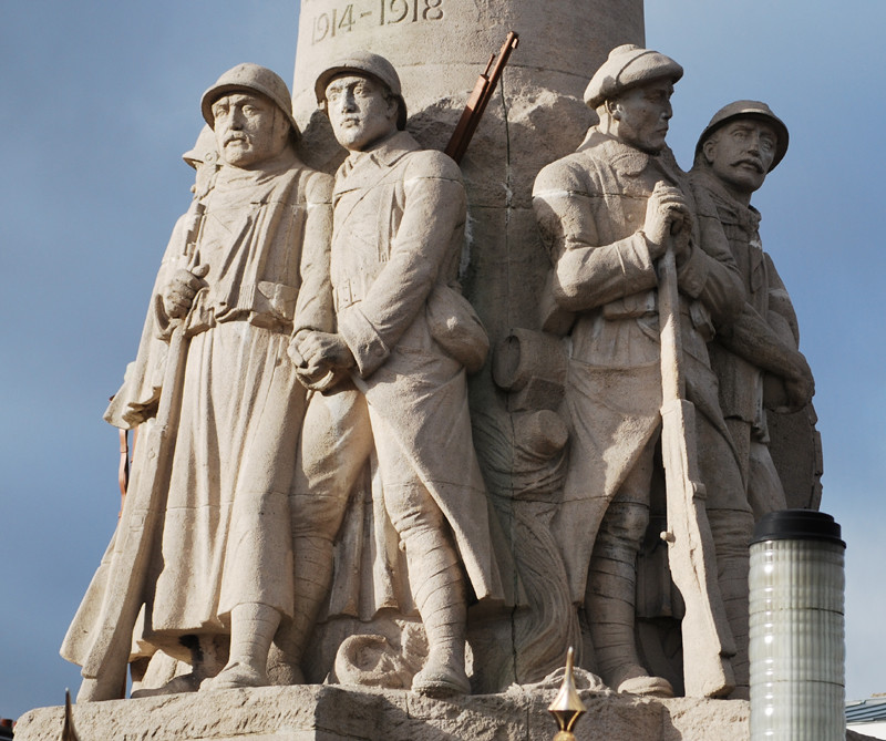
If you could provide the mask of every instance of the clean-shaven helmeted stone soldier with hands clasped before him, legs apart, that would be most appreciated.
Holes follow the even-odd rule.
[[[456,282],[461,173],[404,131],[400,79],[385,59],[354,52],[319,74],[316,93],[349,155],[333,194],[336,330],[299,318],[292,342],[305,382],[327,391],[311,400],[297,466],[296,626],[286,655],[302,659],[348,493],[371,459],[427,636],[412,689],[468,692],[468,590],[496,598],[502,585],[467,409],[465,366],[482,363],[487,340]]]

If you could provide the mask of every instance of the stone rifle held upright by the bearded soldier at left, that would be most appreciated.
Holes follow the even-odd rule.
[[[203,228],[204,205],[195,202],[194,220],[186,236],[188,265],[196,261]],[[83,683],[78,702],[121,697],[126,687],[132,634],[142,608],[151,546],[169,487],[175,439],[182,410],[185,364],[190,339],[178,322],[169,339],[157,416],[143,443],[146,465],[134,472],[114,534],[114,555],[107,575],[95,639],[83,662]]]

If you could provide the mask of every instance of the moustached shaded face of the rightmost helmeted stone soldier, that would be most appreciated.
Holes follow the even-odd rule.
[[[702,145],[704,157],[729,188],[750,195],[766,178],[779,136],[764,121],[739,119],[714,132]]]

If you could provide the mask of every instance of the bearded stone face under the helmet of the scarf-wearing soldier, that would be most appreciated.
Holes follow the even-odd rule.
[[[229,93],[213,103],[215,141],[222,158],[249,168],[284,151],[289,122],[264,95]]]

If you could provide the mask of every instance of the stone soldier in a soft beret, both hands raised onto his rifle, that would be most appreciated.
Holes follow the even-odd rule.
[[[705,347],[741,309],[743,291],[719,224],[696,218],[687,177],[664,144],[681,76],[659,52],[614,49],[585,92],[599,124],[574,154],[538,174],[533,192],[553,263],[543,326],[569,338],[570,457],[556,535],[573,599],[587,611],[596,656],[589,668],[614,689],[658,696],[672,688],[641,666],[633,628],[661,429],[656,263],[669,240],[719,584],[744,661],[753,526]],[[746,668],[739,681],[746,683]]]

